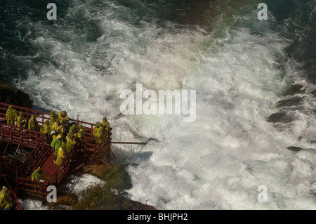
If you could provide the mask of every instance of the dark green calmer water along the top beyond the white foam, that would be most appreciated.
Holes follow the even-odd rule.
[[[82,1],[84,2],[84,1]],[[110,1],[109,1],[110,2]],[[98,7],[107,7],[109,2],[93,1]],[[100,37],[102,31],[98,30],[98,21],[89,20],[77,15],[75,18],[67,17],[67,11],[72,8],[72,1],[55,1],[58,5],[58,20],[46,19],[46,9],[49,1],[0,1],[0,80],[10,83],[13,79],[25,78],[25,71],[34,63],[52,62],[49,49],[37,48],[29,43],[28,39],[39,37],[41,34],[29,32],[29,22],[43,26],[53,27],[59,25],[73,25],[77,34],[88,34],[87,41]],[[199,25],[211,32],[213,18],[224,13],[226,16],[240,16],[246,13],[244,5],[256,6],[259,1],[115,1],[117,6],[124,6],[133,11],[133,18],[124,18],[124,14],[117,14],[119,20],[126,20],[130,25],[138,26],[140,21],[155,22],[158,26],[166,27],[171,23],[179,26]],[[306,79],[315,83],[315,1],[265,1],[268,11],[275,17],[275,32],[291,40],[287,48],[287,55],[300,63],[305,72]],[[239,7],[239,8],[238,8]],[[254,8],[254,7],[253,7]],[[240,9],[240,10],[239,10]],[[158,27],[159,28],[159,27]],[[170,27],[174,29],[174,27]],[[91,33],[91,31],[93,31]],[[27,37],[25,37],[27,36]],[[67,41],[65,39],[64,41]],[[37,58],[32,57],[40,53]]]

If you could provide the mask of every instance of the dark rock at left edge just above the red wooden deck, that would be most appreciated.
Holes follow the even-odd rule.
[[[0,84],[0,102],[27,108],[32,108],[33,104],[27,93],[10,84]]]

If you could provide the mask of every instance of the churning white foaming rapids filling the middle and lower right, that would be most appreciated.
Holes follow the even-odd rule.
[[[277,112],[287,79],[299,72],[291,62],[279,69],[287,41],[269,32],[268,22],[265,34],[229,23],[214,32],[171,22],[136,27],[117,19],[120,11],[132,16],[126,8],[89,6],[75,6],[69,16],[98,22],[102,35],[93,42],[83,41],[71,25],[29,25],[30,35],[38,33],[29,38],[43,49],[39,57],[49,55],[58,67],[34,65],[19,84],[48,110],[90,122],[106,116],[114,141],[156,139],[112,146],[121,163],[138,164],[128,169],[131,199],[157,209],[316,209],[315,153],[287,150],[312,148],[298,142],[306,129],[315,131],[310,118],[302,116],[296,129],[282,132],[266,121]],[[145,114],[114,119],[121,92],[136,91],[136,84],[143,90],[196,90],[195,121]],[[268,189],[266,203],[257,199],[261,185]]]

